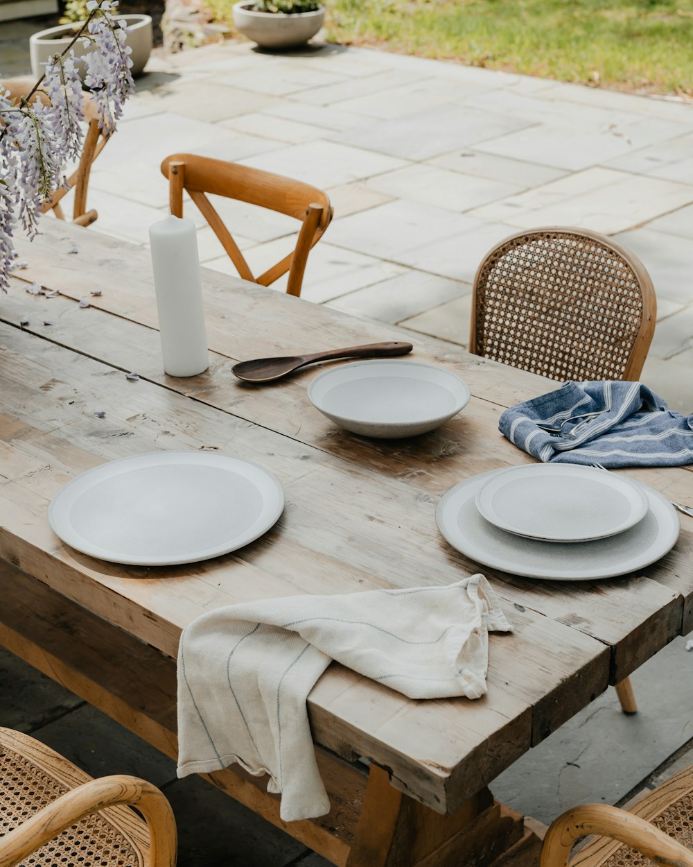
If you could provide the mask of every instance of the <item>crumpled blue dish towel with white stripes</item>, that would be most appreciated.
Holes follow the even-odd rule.
[[[566,382],[510,407],[498,427],[544,463],[609,469],[693,464],[693,415],[672,412],[640,382]]]

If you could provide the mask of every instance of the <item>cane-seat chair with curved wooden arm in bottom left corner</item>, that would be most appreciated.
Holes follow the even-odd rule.
[[[176,825],[159,789],[136,777],[92,779],[7,728],[0,728],[0,805],[0,867],[176,864]]]

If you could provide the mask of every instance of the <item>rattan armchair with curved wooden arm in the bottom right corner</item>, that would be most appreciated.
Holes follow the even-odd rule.
[[[547,831],[541,867],[566,867],[573,844],[589,840],[571,867],[646,867],[653,860],[693,867],[693,767],[659,786],[629,812],[605,804],[573,807]]]

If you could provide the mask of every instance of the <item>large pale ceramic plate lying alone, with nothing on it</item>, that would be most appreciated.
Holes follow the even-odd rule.
[[[216,452],[157,452],[68,482],[49,522],[91,557],[161,566],[236,551],[268,531],[283,507],[282,486],[262,466]]]

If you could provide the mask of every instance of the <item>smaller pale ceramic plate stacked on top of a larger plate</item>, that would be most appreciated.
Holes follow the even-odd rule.
[[[642,486],[575,464],[512,466],[476,492],[476,508],[496,527],[547,542],[615,536],[644,518]]]

